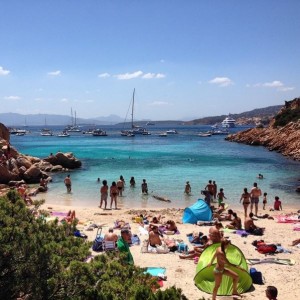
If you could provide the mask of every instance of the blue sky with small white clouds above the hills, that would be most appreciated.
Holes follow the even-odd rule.
[[[298,0],[3,0],[0,113],[193,119],[300,96]]]

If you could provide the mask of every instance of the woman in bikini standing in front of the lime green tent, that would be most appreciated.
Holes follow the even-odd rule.
[[[225,251],[229,245],[230,245],[230,241],[223,238],[221,240],[221,247],[218,247],[216,249],[216,253],[213,256],[211,263],[208,265],[208,266],[211,266],[213,264],[214,260],[217,259],[217,263],[216,263],[214,271],[213,271],[214,277],[215,277],[215,287],[214,287],[213,294],[212,294],[212,300],[216,300],[218,289],[221,285],[223,275],[229,276],[233,280],[232,295],[240,296],[240,294],[237,291],[237,284],[239,281],[238,274],[225,268],[225,265],[234,266],[234,267],[238,268],[238,266],[231,264],[226,257]]]

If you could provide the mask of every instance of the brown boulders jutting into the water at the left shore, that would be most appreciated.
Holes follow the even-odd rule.
[[[41,178],[51,181],[54,172],[81,167],[81,161],[72,153],[58,152],[41,159],[19,153],[10,144],[9,130],[0,123],[0,189],[19,182],[39,183]]]

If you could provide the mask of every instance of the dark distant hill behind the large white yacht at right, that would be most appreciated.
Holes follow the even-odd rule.
[[[239,119],[253,119],[253,118],[259,118],[259,119],[271,119],[274,117],[280,109],[283,107],[283,105],[274,105],[274,106],[268,106],[265,108],[256,108],[251,111],[243,112],[240,114],[230,114],[232,118],[235,120]],[[221,115],[221,116],[214,116],[214,117],[205,117],[201,119],[195,119],[192,121],[184,122],[186,125],[212,125],[215,123],[221,123],[227,115]]]

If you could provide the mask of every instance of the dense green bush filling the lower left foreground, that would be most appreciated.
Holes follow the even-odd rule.
[[[29,210],[14,190],[0,197],[0,299],[187,299],[175,287],[157,290],[115,253],[87,263],[91,243],[74,236],[76,222],[46,222],[42,203]]]

